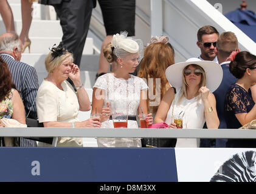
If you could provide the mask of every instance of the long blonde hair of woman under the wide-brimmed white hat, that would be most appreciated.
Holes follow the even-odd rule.
[[[205,86],[206,85],[206,72],[204,71],[204,69],[202,69],[201,66],[199,65],[196,65],[196,64],[190,64],[192,65],[193,67],[201,70],[202,72],[202,76],[201,76],[201,81],[199,83],[199,88],[201,88],[202,86]],[[187,98],[187,87],[189,86],[186,82],[186,79],[185,79],[185,70],[189,68],[189,65],[187,65],[183,70],[182,70],[182,89],[181,89],[181,96],[179,96],[179,99],[178,99],[178,102],[181,101],[181,98],[183,96],[185,96],[185,98]],[[197,96],[197,101],[199,100],[199,98],[201,97],[201,95],[198,95]]]

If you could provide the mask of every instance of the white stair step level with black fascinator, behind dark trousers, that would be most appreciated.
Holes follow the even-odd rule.
[[[30,37],[31,40],[31,53],[49,53],[49,48],[52,48],[54,44],[59,44],[61,41],[60,38],[43,38],[43,37]],[[29,53],[29,49],[27,48],[24,53]],[[93,39],[86,38],[85,47],[83,49],[84,55],[92,55],[93,54]]]

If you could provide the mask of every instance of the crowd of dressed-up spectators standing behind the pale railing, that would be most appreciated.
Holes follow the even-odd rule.
[[[99,2],[106,22],[110,17],[105,9],[108,6]],[[95,2],[80,3],[89,9],[84,18],[90,17]],[[132,12],[134,1],[129,5],[128,12]],[[69,2],[54,7],[60,20],[66,21],[63,9],[69,7]],[[71,10],[70,15],[75,19],[79,12]],[[112,110],[117,105],[128,107],[126,128],[133,129],[139,127],[136,117],[142,113],[149,127],[165,123],[170,130],[239,129],[256,118],[256,56],[240,52],[232,32],[219,34],[210,25],[199,28],[196,45],[201,55],[175,63],[175,50],[167,37],[151,38],[145,46],[140,39],[129,37],[134,36],[134,24],[127,25],[128,32],[123,29],[120,33],[105,24],[107,37],[100,55],[102,67],[93,86],[91,105],[79,69],[88,20],[80,21],[87,21],[83,32],[71,30],[79,24],[68,24],[63,42],[54,45],[46,56],[48,75],[39,87],[35,68],[20,61],[27,47],[24,42],[29,40],[28,33],[25,38],[18,36],[6,18],[10,29],[0,35],[0,118],[14,119],[21,124],[26,124],[26,118],[38,119],[44,127],[109,129],[114,128]],[[73,41],[74,37],[80,38],[78,42]],[[115,65],[110,73],[108,64]],[[79,110],[91,110],[91,118],[79,121]],[[0,125],[5,126],[2,121]],[[26,138],[15,141],[13,146],[50,146],[43,142],[37,145]],[[254,139],[97,138],[97,143],[99,147],[256,147]],[[4,145],[3,138],[1,145]],[[57,146],[81,147],[83,141],[58,138]]]

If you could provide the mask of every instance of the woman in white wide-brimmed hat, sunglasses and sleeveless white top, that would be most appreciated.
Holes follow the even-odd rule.
[[[214,92],[221,83],[223,70],[212,61],[190,58],[170,65],[165,71],[171,87],[162,98],[155,122],[167,122],[177,128],[174,115],[182,116],[183,129],[217,129],[220,121],[216,113]],[[199,139],[177,139],[176,147],[198,147]]]

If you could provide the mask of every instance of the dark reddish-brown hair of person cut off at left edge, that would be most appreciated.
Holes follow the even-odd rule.
[[[11,73],[6,62],[0,57],[0,102],[7,97],[12,88],[16,89]]]

